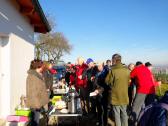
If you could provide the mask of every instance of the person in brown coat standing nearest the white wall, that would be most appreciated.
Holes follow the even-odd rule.
[[[32,126],[39,126],[40,111],[49,102],[42,72],[43,62],[41,60],[31,61],[26,80],[26,105],[32,110]]]

